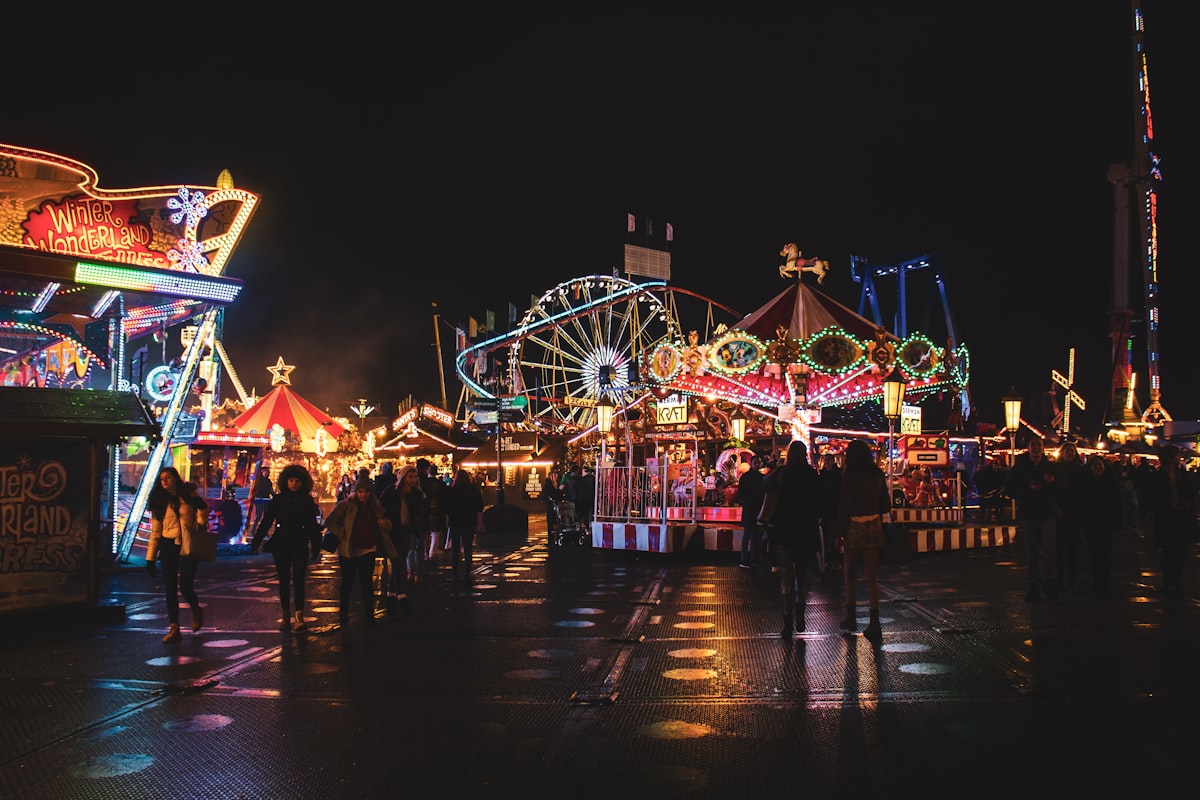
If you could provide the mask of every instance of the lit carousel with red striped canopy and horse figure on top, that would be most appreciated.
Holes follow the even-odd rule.
[[[954,398],[952,405],[961,408],[967,402],[965,345],[940,347],[920,332],[898,337],[805,282],[812,273],[820,284],[828,270],[826,261],[804,259],[794,245],[780,254],[788,257],[779,269],[780,277],[788,279],[784,290],[732,325],[718,325],[706,341],[692,330],[686,341],[664,338],[646,348],[638,373],[648,391],[635,397],[630,387],[610,384],[601,405],[611,397],[614,409],[604,409],[602,416],[624,416],[630,441],[628,431],[637,425],[630,416],[640,416],[646,435],[658,443],[656,453],[670,453],[678,446],[673,438],[695,437],[697,427],[707,426],[718,441],[726,440],[716,463],[733,481],[749,468],[751,441],[800,439],[817,455],[815,427],[829,410],[878,409],[888,395],[893,410],[883,413],[886,445],[875,432],[842,432],[842,438],[868,435],[890,465],[895,457],[892,426],[902,405],[919,407],[946,393]],[[636,405],[644,405],[647,413],[631,415]],[[670,422],[672,416],[678,425]],[[602,419],[601,434],[611,425]],[[820,431],[826,441],[838,434]],[[680,467],[674,464],[678,461],[655,457],[644,464],[632,458],[625,464],[601,464],[593,543],[666,552],[686,548],[698,533],[704,549],[739,549],[740,510],[703,507],[696,499],[698,492],[680,493],[672,465],[685,474],[696,473],[700,465]]]

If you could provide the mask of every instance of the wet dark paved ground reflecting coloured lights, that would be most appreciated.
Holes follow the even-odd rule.
[[[266,555],[203,565],[210,626],[173,645],[140,569],[102,577],[124,622],[6,620],[0,798],[1195,792],[1200,603],[1153,591],[1136,533],[1109,597],[1026,604],[1018,547],[888,563],[880,645],[838,632],[834,579],[785,642],[733,560],[484,546],[470,591],[436,576],[372,627],[337,628],[331,557],[304,634]]]

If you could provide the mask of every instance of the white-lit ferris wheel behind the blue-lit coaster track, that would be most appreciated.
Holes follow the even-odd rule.
[[[662,282],[593,275],[542,294],[509,342],[509,385],[526,397],[530,420],[556,431],[590,426],[604,391],[637,380],[640,354],[678,343],[665,291]]]

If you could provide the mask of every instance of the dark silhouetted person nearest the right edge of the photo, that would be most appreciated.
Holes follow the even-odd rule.
[[[1180,447],[1158,449],[1158,471],[1146,479],[1146,498],[1153,513],[1154,545],[1160,552],[1162,591],[1177,597],[1183,591],[1183,569],[1196,531],[1196,487],[1180,464]]]

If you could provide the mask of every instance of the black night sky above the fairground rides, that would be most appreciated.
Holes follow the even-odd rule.
[[[1163,402],[1196,419],[1200,11],[1146,11],[1165,176]],[[785,288],[787,241],[832,263],[821,289],[852,308],[851,254],[937,253],[979,419],[1002,421],[1009,385],[1046,392],[1074,347],[1088,403],[1075,419],[1098,429],[1111,380],[1106,172],[1134,145],[1128,2],[92,13],[56,32],[31,18],[16,50],[6,42],[0,140],[84,161],[108,188],[211,185],[228,168],[259,193],[227,269],[246,288],[224,329],[259,395],[282,355],[296,391],[337,415],[359,397],[437,402],[433,302],[451,323],[486,309],[503,321],[509,302],[523,312],[530,294],[611,273],[632,212],[673,225],[673,285],[742,313]]]

